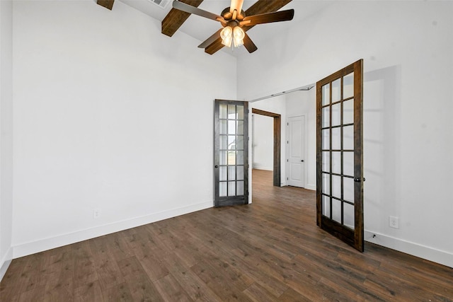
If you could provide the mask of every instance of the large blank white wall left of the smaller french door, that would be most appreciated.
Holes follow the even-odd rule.
[[[14,3],[14,257],[212,207],[236,58],[160,26],[120,1]]]

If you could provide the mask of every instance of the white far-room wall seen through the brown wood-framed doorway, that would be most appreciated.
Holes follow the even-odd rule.
[[[274,169],[274,118],[253,115],[253,169]]]

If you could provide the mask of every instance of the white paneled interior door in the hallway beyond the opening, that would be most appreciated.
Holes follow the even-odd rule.
[[[287,134],[287,185],[305,187],[305,117],[289,117]]]

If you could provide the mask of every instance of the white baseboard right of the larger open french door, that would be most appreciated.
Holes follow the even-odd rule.
[[[375,236],[374,236],[375,235]],[[374,238],[373,238],[374,236]],[[406,254],[420,257],[425,260],[440,263],[447,267],[453,267],[453,253],[444,250],[437,250],[418,243],[412,243],[407,240],[386,236],[380,233],[365,231],[365,241],[376,243],[392,250],[405,252]]]

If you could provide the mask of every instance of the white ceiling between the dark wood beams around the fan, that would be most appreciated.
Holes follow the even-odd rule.
[[[171,3],[173,2],[172,0],[170,0],[166,8],[161,8],[160,6],[157,6],[149,0],[120,1],[129,6],[132,6],[133,8],[136,8],[139,11],[142,11],[143,13],[146,13],[148,16],[151,16],[152,18],[155,18],[159,21],[162,21],[168,11],[171,10]],[[255,2],[256,0],[244,0],[243,10],[246,11],[247,8],[252,6]],[[303,21],[304,18],[308,18],[314,13],[320,11],[322,8],[328,6],[329,3],[330,1],[293,0],[280,9],[280,11],[283,11],[286,9],[294,8],[294,19],[292,21],[256,25],[247,33],[259,50],[260,45],[263,45],[263,42],[265,42],[265,40],[272,39],[273,36],[285,32],[285,30],[294,25],[294,23]],[[229,7],[229,5],[230,0],[205,0],[202,2],[202,4],[200,4],[200,6],[198,6],[198,8],[201,8],[205,11],[210,11],[212,13],[220,14],[222,10],[226,7]],[[219,30],[219,28],[221,28],[221,25],[217,21],[212,21],[207,18],[192,15],[188,18],[187,21],[185,21],[185,23],[178,29],[178,31],[195,37],[195,39],[199,40],[201,43],[217,30]],[[173,38],[178,38],[178,32],[173,35]],[[195,45],[194,47],[197,46],[198,45]],[[233,51],[224,47],[223,50],[235,56],[239,54],[248,54],[247,50],[245,50],[244,47],[239,47],[239,49],[235,49]],[[200,51],[203,50],[200,49]]]

